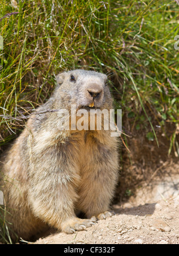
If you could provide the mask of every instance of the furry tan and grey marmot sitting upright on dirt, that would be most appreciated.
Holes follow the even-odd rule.
[[[112,109],[106,79],[103,73],[80,69],[60,73],[51,98],[30,116],[2,160],[0,190],[6,219],[18,237],[30,239],[47,224],[73,233],[95,224],[95,217],[112,215],[118,138],[103,127],[58,127],[60,109]],[[77,211],[86,219],[78,218]]]

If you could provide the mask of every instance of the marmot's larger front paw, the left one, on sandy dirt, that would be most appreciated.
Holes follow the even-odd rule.
[[[97,223],[94,218],[91,219],[81,219],[81,218],[73,218],[72,220],[67,221],[62,225],[62,231],[67,234],[75,233],[75,231],[84,230],[87,227],[91,227]]]

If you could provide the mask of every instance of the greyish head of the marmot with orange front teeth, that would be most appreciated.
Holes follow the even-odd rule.
[[[95,71],[82,69],[63,72],[57,75],[57,88],[54,97],[69,109],[110,109],[112,97],[106,85],[107,76]]]

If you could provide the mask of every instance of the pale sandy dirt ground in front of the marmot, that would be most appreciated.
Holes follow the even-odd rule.
[[[163,166],[166,168],[166,165]],[[73,235],[53,233],[36,240],[58,244],[179,243],[179,165],[168,164],[167,174],[143,183],[128,201],[113,205],[116,215]]]

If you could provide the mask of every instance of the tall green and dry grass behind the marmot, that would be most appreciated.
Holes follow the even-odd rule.
[[[138,162],[143,144],[162,161],[178,158],[178,23],[179,6],[169,0],[1,0],[1,153],[48,100],[55,75],[82,68],[109,76],[115,107],[122,109],[123,132],[130,137],[122,134],[121,172],[136,162],[134,146]],[[147,153],[146,159],[150,165]],[[123,194],[130,196],[126,184]],[[4,236],[8,230],[0,222]]]

